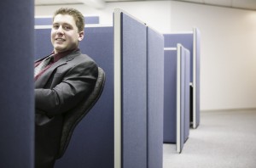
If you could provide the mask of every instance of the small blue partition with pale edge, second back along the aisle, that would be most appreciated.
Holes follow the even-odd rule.
[[[164,143],[176,143],[177,153],[189,138],[189,50],[165,48]]]

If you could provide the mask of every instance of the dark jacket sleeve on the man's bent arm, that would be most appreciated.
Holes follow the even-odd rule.
[[[94,61],[73,65],[55,87],[35,89],[36,111],[43,111],[45,115],[50,116],[73,109],[82,98],[90,94],[97,76],[98,69]]]

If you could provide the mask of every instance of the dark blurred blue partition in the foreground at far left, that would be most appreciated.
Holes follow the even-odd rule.
[[[34,167],[34,1],[1,1],[0,167]]]

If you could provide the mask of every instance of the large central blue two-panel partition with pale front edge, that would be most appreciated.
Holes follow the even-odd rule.
[[[162,36],[116,9],[114,168],[162,167],[163,59],[158,57],[163,57]]]

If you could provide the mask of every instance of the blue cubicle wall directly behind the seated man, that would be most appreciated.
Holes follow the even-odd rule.
[[[52,51],[49,33],[50,29],[36,29],[36,59]],[[55,167],[113,168],[113,27],[85,27],[79,48],[102,67],[106,83],[101,98],[79,122]]]

